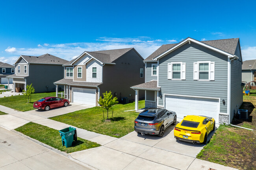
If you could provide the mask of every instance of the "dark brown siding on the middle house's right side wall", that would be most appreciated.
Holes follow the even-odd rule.
[[[143,68],[145,75],[145,65],[143,59],[132,49],[119,57],[115,65],[103,66],[103,84],[100,85],[100,95],[106,91],[111,91],[112,95],[117,94],[119,102],[122,97],[135,100],[135,91],[130,87],[145,82],[145,77],[140,78],[140,68]],[[131,95],[129,97],[129,95]],[[139,90],[139,99],[145,98],[145,90]]]

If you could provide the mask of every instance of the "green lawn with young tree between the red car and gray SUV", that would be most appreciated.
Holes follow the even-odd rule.
[[[135,103],[117,104],[113,106],[113,119],[111,122],[103,120],[103,112],[99,107],[79,110],[65,115],[51,117],[49,119],[70,124],[78,128],[86,129],[92,132],[101,133],[113,137],[122,137],[134,131],[134,120],[139,113],[135,111],[124,112],[125,110],[134,110]],[[139,101],[139,108],[145,107],[145,101]],[[107,111],[104,110],[105,119]],[[112,110],[109,110],[109,118],[112,116]]]

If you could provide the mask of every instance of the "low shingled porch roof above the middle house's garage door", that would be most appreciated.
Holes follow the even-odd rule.
[[[98,83],[98,82],[76,82],[76,81],[73,81],[73,79],[61,79],[61,80],[58,80],[58,81],[54,82],[54,84],[97,87],[102,83]]]

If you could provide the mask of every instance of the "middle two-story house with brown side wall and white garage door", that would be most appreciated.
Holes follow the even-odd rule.
[[[98,106],[98,99],[106,91],[111,91],[119,102],[123,97],[132,101],[135,96],[130,87],[145,82],[145,64],[134,48],[85,51],[63,66],[64,79],[54,82],[56,96],[61,97],[58,86],[62,85],[62,97],[70,102]],[[144,92],[139,95],[144,97]]]

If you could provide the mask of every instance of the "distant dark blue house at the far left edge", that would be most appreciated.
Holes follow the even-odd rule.
[[[0,62],[0,84],[8,84],[8,79],[6,77],[14,74],[14,70],[13,65]],[[9,83],[13,83],[13,79],[10,79]]]

